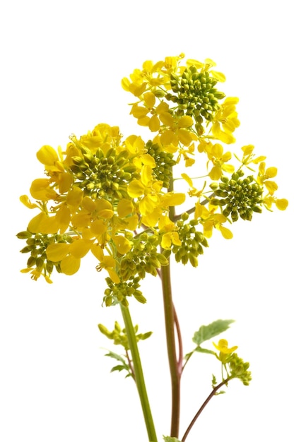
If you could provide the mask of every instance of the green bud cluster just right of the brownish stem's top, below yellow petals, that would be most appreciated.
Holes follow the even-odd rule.
[[[188,261],[193,267],[198,265],[198,256],[204,253],[203,247],[208,247],[208,242],[202,232],[197,232],[195,226],[197,220],[188,221],[189,215],[183,213],[180,220],[177,221],[177,232],[182,241],[180,246],[173,245],[172,253],[175,253],[177,263],[187,264]]]

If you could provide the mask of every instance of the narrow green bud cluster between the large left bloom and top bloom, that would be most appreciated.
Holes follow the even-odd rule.
[[[152,141],[146,143],[147,153],[154,158],[156,166],[153,168],[153,175],[158,181],[163,181],[163,187],[168,189],[170,186],[170,177],[172,176],[172,166],[177,162],[172,159],[171,153],[164,152],[158,144]]]

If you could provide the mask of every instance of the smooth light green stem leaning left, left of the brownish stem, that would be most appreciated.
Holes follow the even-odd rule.
[[[131,321],[131,315],[129,313],[129,308],[122,306],[122,304],[120,304],[120,306],[122,309],[122,317],[124,319],[124,326],[125,326],[126,332],[127,332],[129,349],[131,350],[131,358],[132,358],[133,366],[134,366],[135,381],[136,381],[136,386],[137,386],[138,393],[139,393],[139,398],[141,400],[141,407],[142,407],[143,416],[145,419],[146,429],[147,429],[147,433],[148,433],[148,441],[149,442],[157,442],[157,436],[156,436],[155,427],[153,424],[153,417],[151,414],[151,408],[149,405],[147,390],[146,390],[144,376],[143,376],[140,354],[139,354],[138,345],[137,345],[137,341],[136,341],[136,335],[134,333],[134,325]]]

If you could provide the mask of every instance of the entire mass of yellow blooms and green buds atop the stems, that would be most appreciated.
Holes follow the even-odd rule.
[[[64,150],[44,145],[37,152],[46,177],[30,187],[35,202],[20,197],[38,210],[18,234],[26,240],[22,252],[30,253],[23,273],[52,282],[54,268],[72,275],[91,251],[97,270],[108,273],[105,304],[127,305],[128,296],[144,302],[140,279],[146,272],[156,275],[171,253],[196,266],[213,229],[230,239],[225,223],[251,220],[262,206],[286,209],[288,202],[274,196],[276,168],[255,157],[252,145],[242,147],[237,169],[230,162],[223,144],[235,141],[240,121],[238,99],[216,89],[225,76],[209,59],[181,66],[183,57],[145,61],[122,80],[135,97],[131,114],[153,133],[151,140],[124,139],[117,126],[98,124],[80,139],[71,136]],[[204,173],[197,169],[196,151],[206,155]],[[192,200],[182,215],[174,209],[186,200],[185,193],[173,190],[177,165],[193,170],[177,177]],[[197,189],[195,174],[205,176]]]

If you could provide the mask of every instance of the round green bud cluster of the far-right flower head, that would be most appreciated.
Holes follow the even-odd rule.
[[[253,212],[261,213],[262,189],[254,181],[254,177],[250,175],[242,179],[243,175],[244,172],[239,170],[234,172],[230,179],[221,177],[222,182],[214,191],[219,198],[211,200],[213,205],[223,207],[223,215],[230,215],[234,222],[238,220],[239,215],[242,220],[251,221]]]

